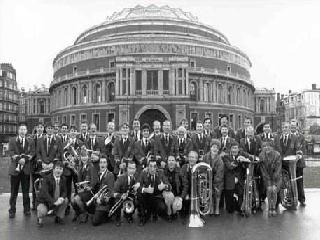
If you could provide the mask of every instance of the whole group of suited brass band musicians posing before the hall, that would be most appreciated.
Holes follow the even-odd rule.
[[[215,195],[212,215],[242,213],[246,161],[254,161],[259,202],[268,199],[268,213],[276,215],[279,205],[282,159],[297,155],[297,177],[303,175],[305,140],[297,123],[284,123],[282,132],[272,132],[264,123],[263,133],[255,134],[250,118],[234,131],[228,116],[222,116],[213,128],[210,118],[196,123],[194,132],[188,122],[172,131],[169,120],[140,126],[138,119],[122,124],[118,132],[114,122],[107,124],[107,134],[97,135],[95,124],[81,123],[79,132],[72,126],[39,124],[33,135],[20,125],[18,136],[9,143],[11,196],[9,217],[16,213],[16,199],[21,183],[26,216],[37,211],[37,224],[55,216],[57,224],[74,210],[73,221],[85,223],[89,216],[94,226],[121,216],[133,222],[137,209],[139,225],[163,217],[169,222],[178,215],[183,221],[190,214],[192,167],[205,162],[212,168]],[[298,154],[299,152],[299,154]],[[41,186],[35,189],[35,182]],[[38,180],[39,181],[39,180]],[[29,199],[30,182],[32,203]],[[298,200],[305,206],[303,178],[297,180]],[[74,189],[74,194],[72,190]],[[129,201],[130,200],[130,201]],[[31,209],[30,209],[31,206]]]

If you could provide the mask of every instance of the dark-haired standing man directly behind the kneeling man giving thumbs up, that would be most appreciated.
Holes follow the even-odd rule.
[[[135,142],[133,149],[137,164],[137,171],[139,173],[147,166],[148,157],[154,155],[154,139],[149,138],[150,126],[148,123],[145,123],[142,126],[142,136],[141,140]],[[158,165],[160,165],[160,162]]]

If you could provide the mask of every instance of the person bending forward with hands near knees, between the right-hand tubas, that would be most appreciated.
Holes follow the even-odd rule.
[[[277,214],[277,195],[281,185],[281,156],[273,150],[270,142],[262,143],[262,152],[259,155],[260,169],[267,189],[268,213]]]

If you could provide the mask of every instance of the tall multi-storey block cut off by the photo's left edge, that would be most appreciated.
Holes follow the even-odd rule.
[[[16,70],[9,63],[0,64],[0,143],[17,132],[18,89]]]

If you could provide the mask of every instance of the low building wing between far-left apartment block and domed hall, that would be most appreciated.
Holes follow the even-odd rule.
[[[42,86],[26,92],[20,91],[19,122],[25,123],[29,133],[33,133],[39,123],[51,122],[49,89]]]

